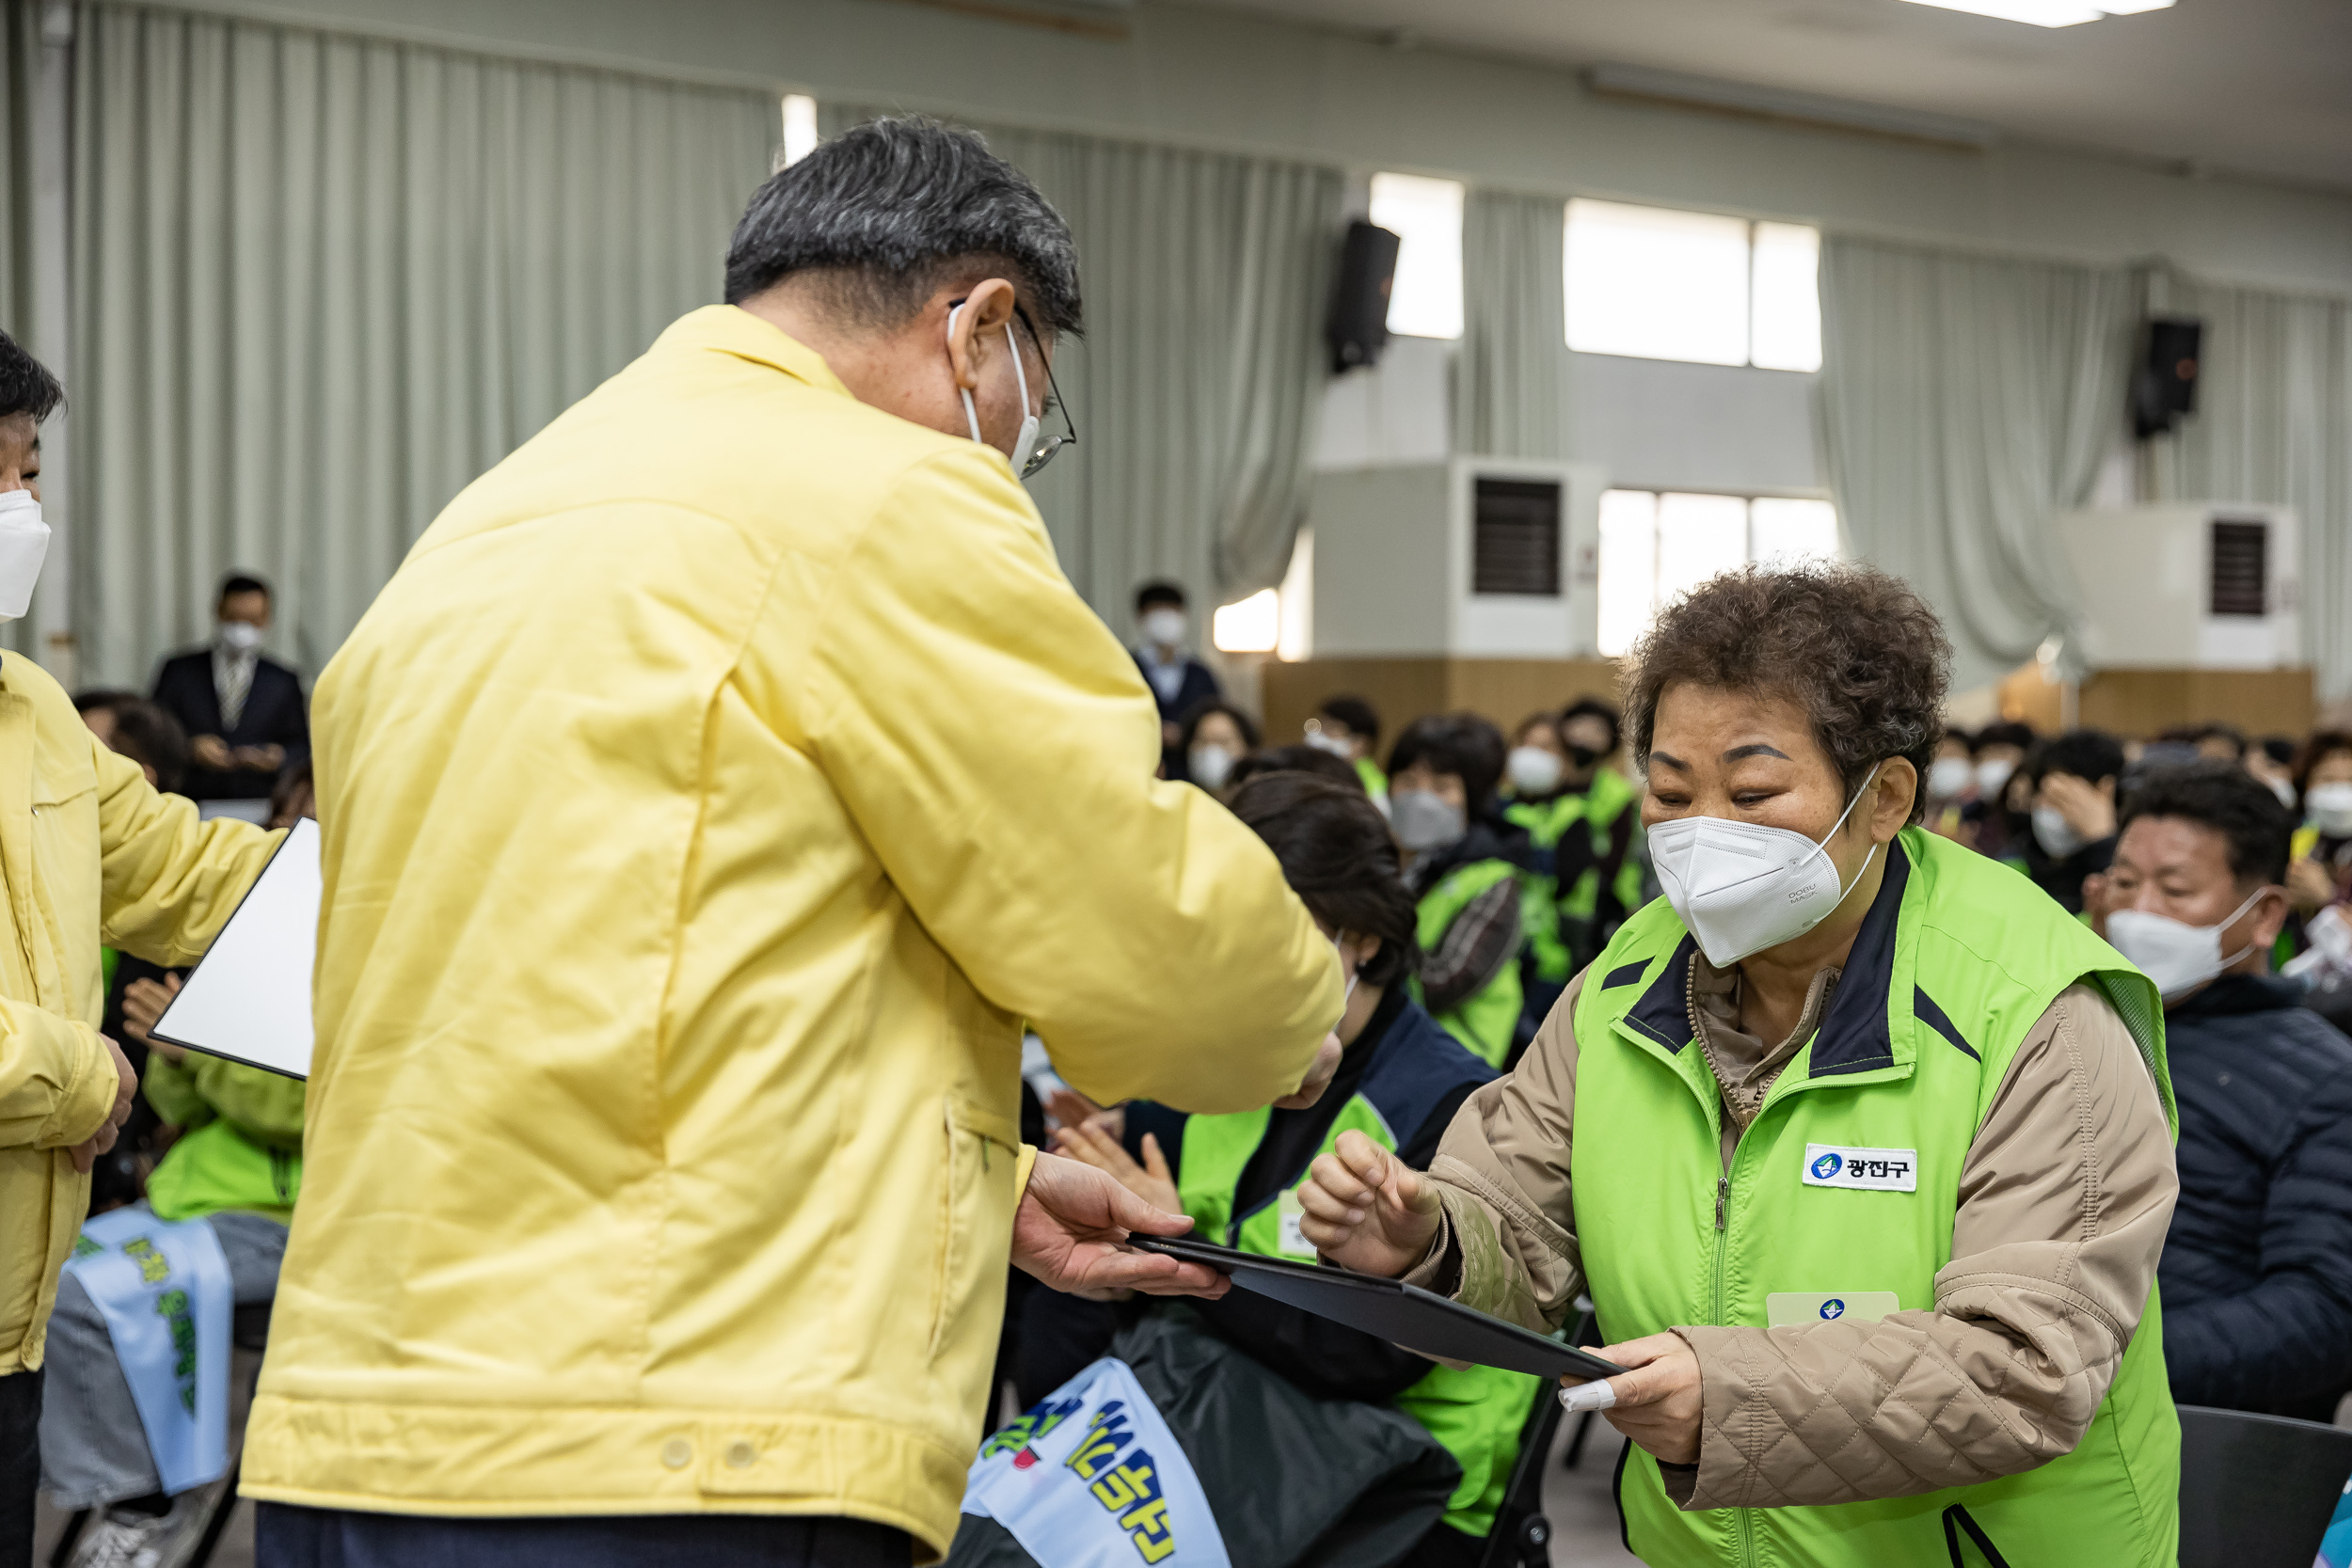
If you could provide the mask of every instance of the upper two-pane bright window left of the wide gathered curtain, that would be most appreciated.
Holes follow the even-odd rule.
[[[1576,353],[1820,369],[1816,228],[1578,197],[1564,247]]]

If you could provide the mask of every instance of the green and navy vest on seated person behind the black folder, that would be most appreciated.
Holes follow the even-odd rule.
[[[1491,1077],[1432,1027],[1428,1013],[1409,1006],[1388,1027],[1378,1056],[1331,1121],[1319,1152],[1329,1154],[1338,1135],[1350,1128],[1395,1152],[1392,1128],[1421,1126],[1463,1079],[1484,1084]],[[1305,1180],[1305,1171],[1298,1173],[1298,1182],[1258,1208],[1232,1213],[1235,1190],[1249,1157],[1265,1138],[1268,1119],[1265,1110],[1188,1117],[1176,1190],[1202,1237],[1265,1258],[1312,1260],[1315,1246],[1298,1234],[1298,1182]],[[1421,1382],[1397,1394],[1397,1408],[1418,1420],[1463,1467],[1444,1514],[1456,1530],[1484,1537],[1494,1528],[1503,1490],[1510,1486],[1510,1467],[1519,1458],[1519,1429],[1541,1387],[1541,1378],[1491,1366],[1458,1371],[1435,1366]]]

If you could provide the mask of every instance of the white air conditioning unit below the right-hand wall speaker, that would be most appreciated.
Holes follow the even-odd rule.
[[[2291,505],[2067,512],[2058,543],[2093,670],[2277,670],[2303,658],[2300,527]]]

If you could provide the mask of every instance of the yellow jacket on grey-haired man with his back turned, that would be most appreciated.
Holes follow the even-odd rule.
[[[941,367],[946,374],[946,364]],[[1338,1018],[1004,458],[713,306],[461,494],[313,703],[306,1166],[245,1490],[943,1549],[1018,1020],[1242,1110]]]

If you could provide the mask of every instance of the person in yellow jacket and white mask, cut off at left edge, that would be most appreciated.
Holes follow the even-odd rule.
[[[40,421],[56,378],[0,334],[0,621],[26,614],[49,543]],[[280,835],[200,823],[158,795],[21,654],[0,656],[0,1568],[33,1561],[40,1389],[56,1274],[89,1213],[89,1166],[136,1079],[99,1034],[99,950],[193,964]]]

